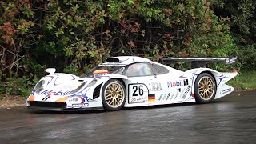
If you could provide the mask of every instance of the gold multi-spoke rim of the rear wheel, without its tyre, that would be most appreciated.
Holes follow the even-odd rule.
[[[203,100],[209,100],[214,95],[214,81],[210,77],[202,77],[198,82],[198,93]]]

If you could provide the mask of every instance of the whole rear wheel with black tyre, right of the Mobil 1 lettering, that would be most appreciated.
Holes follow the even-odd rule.
[[[199,74],[194,82],[194,94],[198,103],[211,102],[216,94],[216,82],[213,76],[208,73]]]

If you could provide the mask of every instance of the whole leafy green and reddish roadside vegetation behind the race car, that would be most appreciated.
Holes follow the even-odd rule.
[[[28,96],[46,67],[82,74],[117,55],[156,62],[236,55],[241,74],[230,84],[252,88],[255,7],[234,0],[1,1],[0,94]]]

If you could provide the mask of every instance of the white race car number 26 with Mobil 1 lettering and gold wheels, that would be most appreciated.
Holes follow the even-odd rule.
[[[122,107],[208,103],[234,91],[225,83],[238,73],[205,68],[206,62],[234,63],[236,58],[164,58],[163,62],[190,61],[192,69],[176,70],[147,58],[107,58],[82,77],[55,73],[41,78],[27,98],[28,107],[49,110],[120,110]],[[194,68],[199,67],[200,68]]]

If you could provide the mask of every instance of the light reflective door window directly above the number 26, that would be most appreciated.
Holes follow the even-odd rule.
[[[130,65],[126,70],[126,76],[128,77],[139,77],[139,76],[150,76],[150,66],[146,63],[134,63]]]

